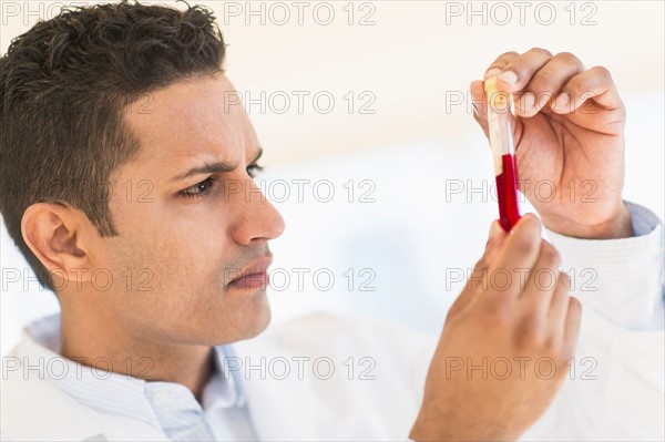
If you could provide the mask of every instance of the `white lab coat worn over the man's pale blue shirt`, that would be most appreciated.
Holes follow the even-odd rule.
[[[381,321],[313,313],[236,343],[238,360],[255,366],[262,357],[268,361],[326,357],[335,367],[329,379],[325,379],[328,362],[318,377],[311,376],[313,364],[305,363],[303,379],[296,376],[295,363],[284,380],[278,379],[284,366],[264,370],[266,376],[244,370],[243,388],[256,434],[269,441],[407,440],[436,341]],[[584,311],[576,358],[596,362],[575,363],[574,379],[523,439],[662,441],[664,345],[662,330],[627,331],[593,310]],[[21,345],[11,354],[20,356]],[[349,357],[354,362],[344,364]],[[359,363],[362,357],[375,362],[371,370]],[[23,379],[20,370],[8,374],[2,382],[4,439],[167,440],[142,421],[84,407],[39,377]]]

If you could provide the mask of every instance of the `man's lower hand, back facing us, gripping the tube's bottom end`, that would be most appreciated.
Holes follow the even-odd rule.
[[[548,409],[573,357],[582,307],[531,214],[484,255],[450,308],[432,358],[416,441],[515,440]]]

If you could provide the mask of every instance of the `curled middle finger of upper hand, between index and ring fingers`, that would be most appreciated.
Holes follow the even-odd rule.
[[[583,71],[584,64],[575,55],[557,53],[533,74],[524,91],[515,97],[515,112],[522,116],[535,115],[554,103],[562,86]]]

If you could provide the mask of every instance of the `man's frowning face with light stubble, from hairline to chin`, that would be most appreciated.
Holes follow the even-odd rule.
[[[113,175],[120,235],[100,239],[94,267],[113,274],[105,315],[155,343],[221,345],[267,326],[266,281],[284,220],[252,181],[260,154],[226,76],[180,82],[125,114],[137,157]],[[143,111],[142,111],[143,109]],[[147,112],[152,113],[147,113]],[[102,278],[103,279],[103,278]]]

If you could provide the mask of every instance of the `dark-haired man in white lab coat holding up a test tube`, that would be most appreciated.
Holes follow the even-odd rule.
[[[436,350],[387,325],[325,315],[263,332],[268,241],[284,222],[252,181],[262,148],[247,115],[225,109],[234,89],[213,20],[196,7],[85,8],[38,23],[0,60],[0,208],[61,305],[6,358],[4,439],[514,440],[545,410],[535,438],[598,438],[612,425],[586,425],[566,410],[616,418],[621,403],[594,413],[589,402],[633,392],[657,409],[662,392],[642,378],[662,370],[657,361],[632,374],[631,361],[618,359],[627,368],[618,382],[636,386],[627,395],[607,379],[614,371],[593,386],[600,391],[574,386],[577,397],[556,395],[575,354],[581,305],[533,215],[510,235],[491,226]],[[494,75],[516,97],[522,178],[597,184],[592,205],[539,204],[525,189],[566,258],[597,265],[600,282],[612,281],[601,301],[630,310],[617,319],[587,299],[608,317],[592,313],[594,323],[624,340],[631,328],[657,328],[661,229],[621,198],[625,112],[611,76],[544,50],[501,55],[485,73]],[[481,86],[471,90],[487,130]],[[555,99],[541,100],[543,91]],[[150,113],[137,111],[145,96]],[[583,105],[592,112],[579,112]],[[231,192],[237,184],[243,192]],[[641,268],[612,280],[606,270],[617,263]],[[543,271],[554,275],[550,284],[536,279]],[[524,278],[497,287],[499,273]],[[657,354],[662,333],[646,339]],[[586,349],[603,358],[603,346]],[[320,367],[367,356],[376,364],[367,381]],[[262,358],[270,376],[256,373]],[[508,370],[469,376],[451,366],[460,360],[502,361]],[[536,360],[550,363],[549,376],[526,366]],[[300,370],[311,361],[314,376]],[[275,362],[295,363],[298,376],[277,372]],[[658,435],[657,420],[642,424]]]

